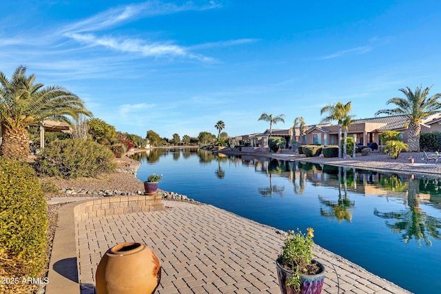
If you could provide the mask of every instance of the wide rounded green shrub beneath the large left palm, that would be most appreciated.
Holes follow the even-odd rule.
[[[93,140],[68,139],[48,144],[35,167],[42,175],[79,178],[113,171],[116,163],[108,147]]]

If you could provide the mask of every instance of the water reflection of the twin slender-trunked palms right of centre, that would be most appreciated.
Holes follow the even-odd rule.
[[[343,178],[343,185],[345,187],[345,196],[342,197],[341,193],[341,178],[342,178],[342,167],[338,167],[338,200],[337,201],[331,201],[326,200],[322,196],[318,196],[318,199],[320,200],[321,204],[324,204],[329,209],[325,211],[325,209],[322,209],[320,207],[320,215],[326,216],[328,218],[335,217],[340,222],[342,220],[347,220],[348,222],[351,222],[352,220],[352,213],[351,211],[355,209],[355,201],[351,201],[347,198],[347,176],[346,176],[346,169],[344,171],[344,178]]]

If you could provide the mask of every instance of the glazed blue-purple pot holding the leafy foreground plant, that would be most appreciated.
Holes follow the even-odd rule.
[[[283,268],[283,266],[276,261],[280,292],[282,294],[320,294],[320,292],[322,292],[323,282],[325,281],[325,266],[316,260],[313,260],[313,262],[316,262],[322,271],[316,275],[300,276],[302,286],[300,287],[300,291],[294,291],[294,288],[287,287],[286,285],[287,280],[291,277],[291,271]]]

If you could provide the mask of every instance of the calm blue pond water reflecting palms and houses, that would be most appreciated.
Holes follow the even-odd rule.
[[[160,189],[287,231],[414,293],[440,293],[441,178],[216,155],[197,149],[136,154],[137,177]]]

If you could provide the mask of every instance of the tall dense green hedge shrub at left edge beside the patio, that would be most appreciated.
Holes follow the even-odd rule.
[[[24,162],[0,157],[0,267],[13,261],[23,275],[45,264],[46,200],[35,171]]]

